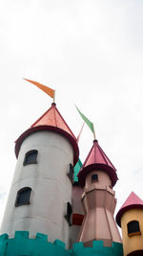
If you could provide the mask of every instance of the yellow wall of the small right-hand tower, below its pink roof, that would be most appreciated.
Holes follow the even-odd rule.
[[[129,237],[127,223],[130,221],[139,221],[141,235]],[[121,228],[123,234],[124,256],[135,250],[143,250],[143,209],[131,209],[125,212],[121,217]]]

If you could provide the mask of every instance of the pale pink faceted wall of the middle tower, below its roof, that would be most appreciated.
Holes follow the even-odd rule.
[[[92,181],[92,175],[98,175]],[[93,240],[103,240],[104,245],[111,246],[112,242],[121,243],[119,231],[113,218],[116,205],[112,181],[104,171],[94,170],[86,176],[86,186],[82,196],[85,218],[81,227],[79,242],[87,246]]]

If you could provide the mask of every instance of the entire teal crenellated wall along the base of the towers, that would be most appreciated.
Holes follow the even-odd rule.
[[[92,247],[77,243],[66,250],[59,240],[48,242],[47,235],[37,233],[35,239],[30,239],[28,231],[16,231],[12,239],[7,234],[0,236],[0,256],[123,256],[123,249],[122,244],[104,247],[102,241],[93,241]]]

